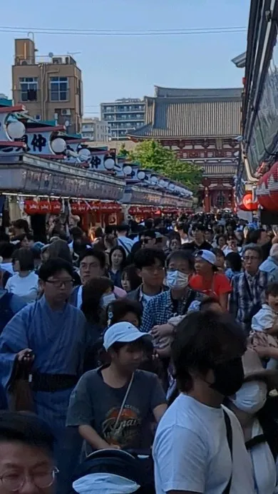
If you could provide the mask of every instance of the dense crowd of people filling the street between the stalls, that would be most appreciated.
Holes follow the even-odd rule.
[[[0,494],[101,492],[86,458],[151,449],[158,494],[278,493],[278,236],[79,220],[0,232]]]

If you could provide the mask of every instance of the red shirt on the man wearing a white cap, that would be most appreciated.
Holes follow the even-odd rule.
[[[189,284],[193,290],[203,292],[210,297],[213,295],[220,297],[222,294],[232,292],[230,280],[222,273],[215,273],[210,280],[204,279],[201,274],[193,274]]]

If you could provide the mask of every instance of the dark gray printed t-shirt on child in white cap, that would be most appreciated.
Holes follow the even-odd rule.
[[[114,431],[128,384],[111,388],[103,381],[101,369],[86,372],[71,393],[67,426],[90,425],[105,441],[117,443],[121,448],[150,448],[153,410],[166,403],[165,393],[158,376],[135,371],[117,431]]]

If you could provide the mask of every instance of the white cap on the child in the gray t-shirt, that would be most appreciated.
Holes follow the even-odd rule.
[[[114,343],[131,343],[146,336],[130,322],[117,322],[108,328],[103,336],[103,346],[108,350]]]

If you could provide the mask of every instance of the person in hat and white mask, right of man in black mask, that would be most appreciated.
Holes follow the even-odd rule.
[[[244,384],[226,404],[242,426],[256,493],[274,494],[278,492],[277,398],[267,395],[277,384],[278,371],[263,369],[259,356],[251,349],[245,352],[242,363]]]

